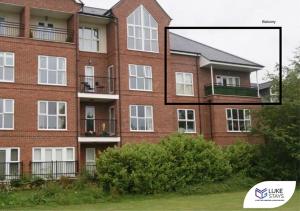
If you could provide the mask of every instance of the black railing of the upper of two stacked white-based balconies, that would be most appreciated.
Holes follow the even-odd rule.
[[[94,94],[115,94],[115,78],[80,76],[80,92]]]

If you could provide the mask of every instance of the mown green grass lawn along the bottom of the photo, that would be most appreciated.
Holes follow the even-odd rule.
[[[190,195],[184,196],[179,194],[167,194],[157,196],[138,196],[138,197],[123,197],[114,202],[105,202],[98,204],[72,205],[72,206],[57,206],[57,207],[35,207],[18,210],[59,210],[59,211],[235,211],[244,210],[243,200],[246,192],[233,192],[210,195]],[[253,209],[250,209],[253,210]],[[263,209],[259,209],[263,210]],[[266,209],[270,210],[270,209]],[[272,209],[282,211],[300,211],[300,189],[297,189],[293,198],[283,207]]]

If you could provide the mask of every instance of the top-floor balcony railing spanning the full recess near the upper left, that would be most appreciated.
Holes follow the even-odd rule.
[[[62,28],[31,26],[30,37],[37,40],[73,42],[73,32]]]

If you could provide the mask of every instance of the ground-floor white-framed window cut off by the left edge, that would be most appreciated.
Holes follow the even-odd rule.
[[[0,181],[18,179],[20,176],[20,150],[0,148]]]

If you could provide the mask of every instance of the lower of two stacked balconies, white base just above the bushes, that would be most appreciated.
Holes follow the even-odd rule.
[[[79,142],[116,143],[120,142],[117,121],[108,119],[82,119]]]

